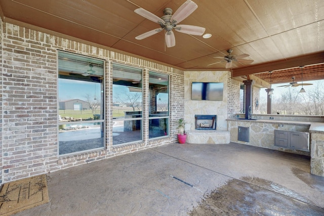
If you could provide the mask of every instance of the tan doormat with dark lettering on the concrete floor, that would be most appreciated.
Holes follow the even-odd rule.
[[[6,183],[0,192],[0,215],[8,216],[48,201],[46,175]]]

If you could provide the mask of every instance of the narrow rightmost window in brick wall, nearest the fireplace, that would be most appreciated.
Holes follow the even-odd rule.
[[[169,76],[149,71],[149,138],[169,134]]]

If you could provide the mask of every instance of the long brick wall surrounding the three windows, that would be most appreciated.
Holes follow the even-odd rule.
[[[3,23],[2,25],[2,183],[177,141],[175,120],[184,117],[184,72],[127,56],[79,39]],[[106,60],[106,149],[58,155],[57,50]],[[143,100],[148,102],[148,70],[170,75],[170,137],[112,146],[112,62],[143,68]],[[0,88],[1,88],[0,87]],[[148,107],[143,128],[148,128]]]

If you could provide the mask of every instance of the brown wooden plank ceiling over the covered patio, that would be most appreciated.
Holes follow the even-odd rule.
[[[136,36],[159,24],[134,12],[141,7],[158,17],[185,0],[0,0],[4,22],[50,30],[184,70],[224,70],[226,50],[249,54],[252,64],[233,62],[233,77],[255,74],[271,83],[324,79],[324,1],[193,0],[198,8],[180,24],[205,27],[212,37],[174,31],[176,46],[166,48],[164,32]],[[49,32],[50,32],[49,31]],[[209,65],[212,64],[212,65]]]

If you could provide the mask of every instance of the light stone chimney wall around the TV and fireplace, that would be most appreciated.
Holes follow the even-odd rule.
[[[217,115],[217,130],[227,131],[227,93],[228,71],[186,71],[185,80],[185,122],[186,131],[194,130],[194,115]],[[223,82],[224,92],[222,101],[191,100],[192,82]]]

